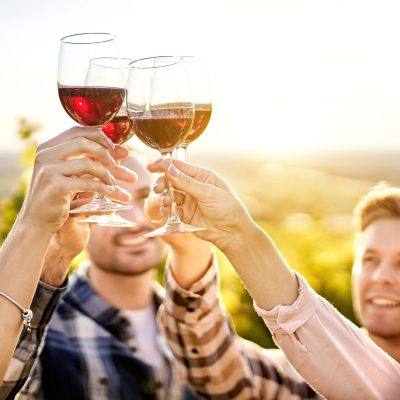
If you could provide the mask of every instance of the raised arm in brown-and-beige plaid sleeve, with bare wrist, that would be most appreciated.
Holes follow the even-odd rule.
[[[160,224],[161,199],[146,202],[149,219]],[[184,196],[177,192],[175,199],[180,204]],[[320,399],[280,351],[262,349],[237,335],[220,299],[211,244],[193,234],[163,238],[170,252],[158,319],[179,378],[207,398]]]

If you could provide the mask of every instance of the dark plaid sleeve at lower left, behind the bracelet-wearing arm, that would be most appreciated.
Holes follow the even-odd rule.
[[[32,331],[21,333],[14,356],[8,366],[6,376],[0,386],[0,399],[13,399],[28,379],[37,358],[46,326],[53,314],[61,293],[66,288],[54,288],[39,282],[31,304],[33,312]]]

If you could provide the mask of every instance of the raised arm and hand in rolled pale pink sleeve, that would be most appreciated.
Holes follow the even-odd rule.
[[[161,172],[163,163],[149,169]],[[166,174],[175,188],[186,192],[184,222],[204,226],[196,234],[227,255],[275,341],[311,386],[332,399],[397,396],[399,364],[289,268],[217,174],[178,161]],[[161,179],[160,190],[162,186]]]

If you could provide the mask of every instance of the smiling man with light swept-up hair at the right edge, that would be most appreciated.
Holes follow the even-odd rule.
[[[354,308],[369,337],[400,362],[400,189],[372,190],[354,215]]]

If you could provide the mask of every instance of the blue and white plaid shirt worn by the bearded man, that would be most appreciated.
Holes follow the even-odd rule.
[[[135,356],[138,343],[129,321],[102,299],[87,280],[75,276],[49,324],[39,362],[18,399],[156,399],[159,380],[153,368]],[[154,286],[159,306],[161,287]],[[159,349],[168,365],[171,352],[162,335]],[[170,370],[172,376],[172,367]],[[166,398],[195,399],[177,379]]]

